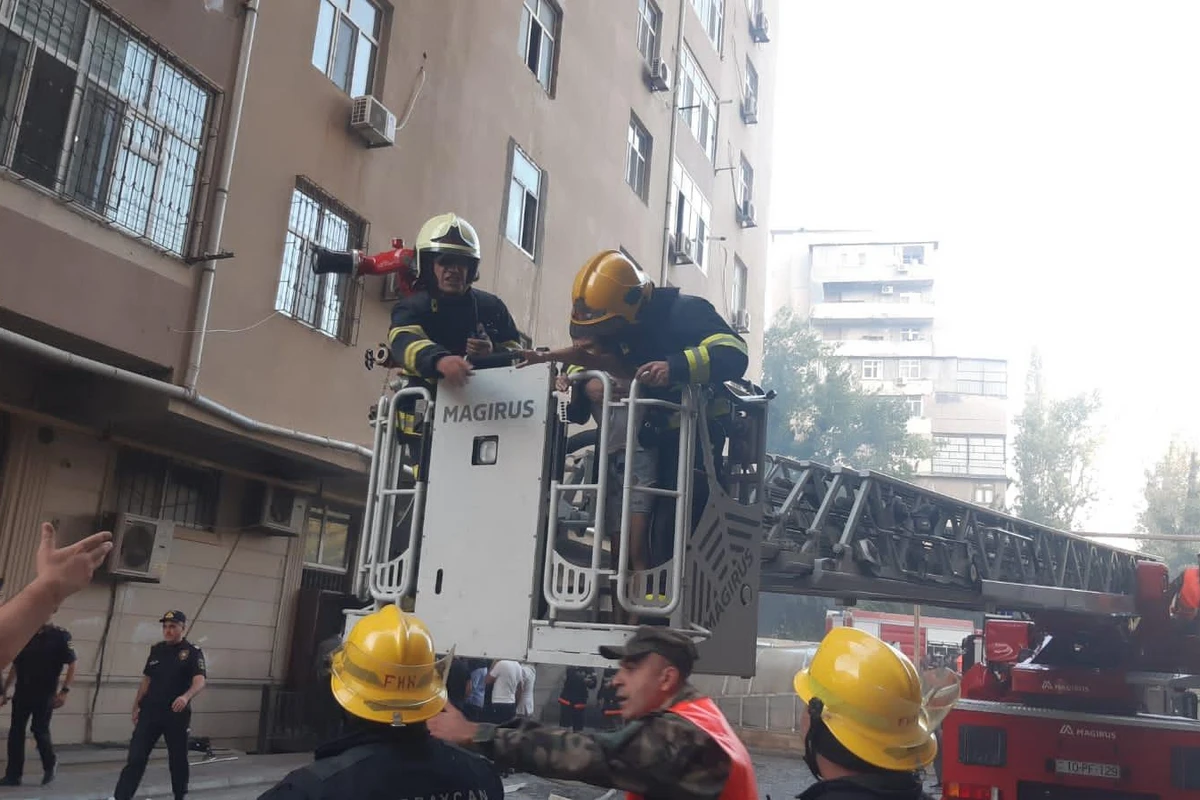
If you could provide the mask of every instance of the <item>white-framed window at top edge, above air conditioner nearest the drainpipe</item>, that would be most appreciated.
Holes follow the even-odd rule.
[[[372,30],[366,30],[364,10],[374,12]],[[312,43],[312,66],[350,97],[370,95],[379,67],[379,38],[383,34],[384,11],[373,0],[320,0],[317,11],[317,32]],[[348,54],[344,78],[334,74],[341,36],[349,29],[354,37]],[[366,48],[366,49],[364,49]],[[360,60],[360,58],[362,60]],[[359,72],[360,65],[362,73]],[[340,82],[341,80],[341,82]]]

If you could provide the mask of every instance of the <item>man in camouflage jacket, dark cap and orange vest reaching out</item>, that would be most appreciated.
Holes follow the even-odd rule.
[[[757,799],[750,758],[715,704],[688,684],[696,648],[683,633],[642,626],[622,648],[613,679],[626,724],[574,733],[523,720],[468,722],[451,708],[428,721],[440,739],[470,747],[497,766],[623,789],[643,798]]]

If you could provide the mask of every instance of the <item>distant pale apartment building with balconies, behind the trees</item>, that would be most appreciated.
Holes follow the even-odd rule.
[[[956,355],[935,335],[942,269],[932,239],[773,230],[768,319],[798,309],[865,390],[904,397],[910,432],[932,441],[916,482],[994,505],[1008,488],[1008,366]]]

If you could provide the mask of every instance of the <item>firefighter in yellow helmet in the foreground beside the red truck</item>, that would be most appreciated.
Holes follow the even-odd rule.
[[[959,697],[958,680],[929,696],[912,661],[853,627],[826,634],[796,674],[804,700],[804,762],[817,782],[799,800],[928,800],[920,772],[937,754],[935,730]]]

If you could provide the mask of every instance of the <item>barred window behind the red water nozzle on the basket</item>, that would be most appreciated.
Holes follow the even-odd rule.
[[[296,181],[283,241],[283,265],[275,296],[276,311],[334,337],[355,344],[362,311],[362,279],[349,275],[313,275],[313,247],[361,249],[367,223],[306,179]]]

